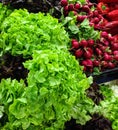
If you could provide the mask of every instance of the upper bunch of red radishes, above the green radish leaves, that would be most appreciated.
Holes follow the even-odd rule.
[[[76,3],[69,3],[67,0],[61,0],[61,6],[63,7],[64,16],[68,16],[70,12],[73,12],[76,16],[77,22],[81,23],[85,18],[90,22],[90,26],[93,26],[96,30],[100,30],[105,24],[106,20],[96,9],[96,4],[89,1],[81,4],[79,1]]]

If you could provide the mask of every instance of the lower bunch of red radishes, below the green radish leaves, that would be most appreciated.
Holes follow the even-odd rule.
[[[107,32],[101,32],[99,40],[72,39],[71,51],[84,66],[85,72],[94,72],[113,69],[118,65],[118,43]]]

